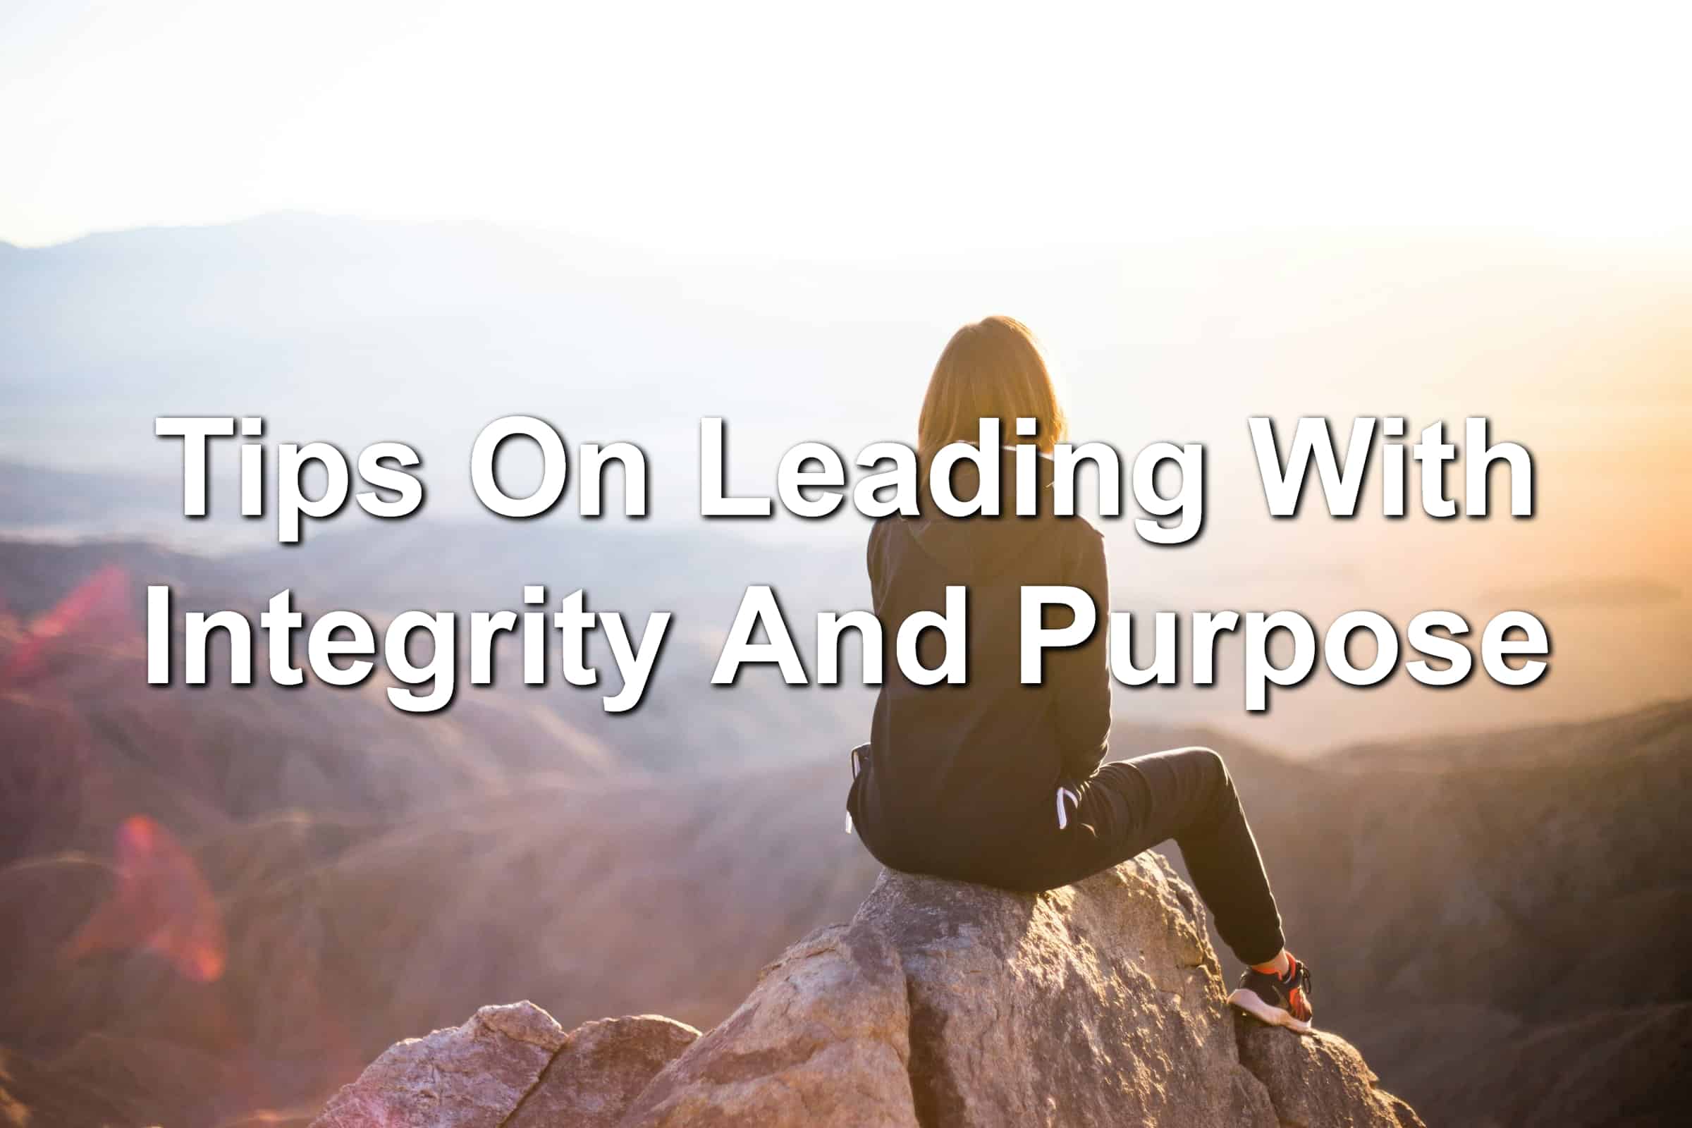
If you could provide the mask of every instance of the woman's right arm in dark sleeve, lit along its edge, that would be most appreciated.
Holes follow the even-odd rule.
[[[1079,587],[1093,600],[1098,626],[1081,646],[1046,654],[1046,676],[1052,682],[1052,714],[1063,751],[1064,778],[1085,780],[1105,759],[1110,747],[1110,578],[1105,573],[1105,538],[1081,517],[1071,534],[1071,558],[1064,582]]]

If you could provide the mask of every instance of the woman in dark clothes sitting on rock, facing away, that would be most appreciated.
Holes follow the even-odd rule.
[[[1066,433],[1052,381],[1029,330],[1010,318],[966,325],[946,345],[922,402],[922,479],[934,455],[975,441],[980,419],[1015,436],[1034,419],[1044,453]],[[1022,440],[1027,441],[1027,440]],[[1041,685],[1019,676],[1020,589],[1073,585],[1110,609],[1105,543],[1083,517],[1051,511],[1051,460],[1039,462],[1042,506],[1017,517],[1010,448],[1002,453],[1000,517],[887,517],[870,534],[870,583],[882,622],[941,609],[948,585],[968,590],[968,682],[919,687],[890,670],[870,744],[854,749],[846,800],[878,861],[895,869],[1007,890],[1079,881],[1174,839],[1217,932],[1247,964],[1230,1001],[1264,1021],[1310,1030],[1310,971],[1281,935],[1281,917],[1222,758],[1181,747],[1101,764],[1110,741],[1105,631],[1049,651]],[[954,470],[953,496],[973,497],[975,467]],[[1063,627],[1052,611],[1047,627]],[[919,656],[939,665],[926,631]]]

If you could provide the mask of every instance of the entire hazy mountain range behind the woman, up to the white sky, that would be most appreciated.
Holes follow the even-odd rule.
[[[814,612],[866,607],[866,529],[700,521],[699,419],[728,419],[731,490],[770,492],[802,440],[909,441],[941,345],[986,313],[1041,333],[1076,441],[1206,445],[1193,543],[1101,521],[1113,611],[1540,614],[1526,692],[1316,676],[1247,717],[1225,643],[1213,688],[1118,692],[1112,749],[1225,754],[1320,1021],[1430,1123],[1678,1123],[1689,301],[1670,252],[1457,233],[812,262],[274,215],[3,247],[0,1123],[305,1121],[489,1001],[706,1028],[851,917],[871,690],[709,670],[746,585],[802,648]],[[1486,414],[1531,450],[1535,516],[1384,519],[1369,480],[1352,521],[1276,521],[1245,421],[1311,413]],[[184,519],[162,414],[262,416],[272,467],[283,441],[408,441],[425,507],[279,546],[235,511],[225,441]],[[481,511],[469,450],[503,414],[638,443],[651,516]],[[631,714],[503,678],[418,719],[379,676],[232,688],[223,651],[212,685],[149,687],[149,583],[252,617],[283,589],[382,621],[540,583],[675,619]]]

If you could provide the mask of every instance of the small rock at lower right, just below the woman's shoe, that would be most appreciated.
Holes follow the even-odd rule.
[[[1240,1062],[1269,1089],[1284,1128],[1426,1128],[1415,1109],[1376,1086],[1350,1042],[1332,1033],[1289,1038],[1244,1015],[1235,1016],[1235,1028]]]

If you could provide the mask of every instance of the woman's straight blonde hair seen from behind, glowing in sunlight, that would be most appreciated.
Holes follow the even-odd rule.
[[[927,467],[941,446],[976,441],[981,419],[998,419],[1005,443],[1025,443],[1017,438],[1019,418],[1036,419],[1032,441],[1047,453],[1068,438],[1069,424],[1034,333],[1015,318],[983,318],[953,333],[934,364],[917,418],[917,457]]]

